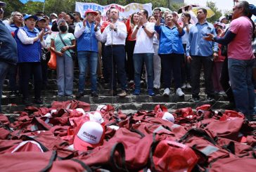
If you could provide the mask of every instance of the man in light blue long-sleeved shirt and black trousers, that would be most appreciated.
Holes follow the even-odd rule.
[[[214,100],[212,64],[213,58],[218,57],[218,46],[213,41],[205,41],[203,39],[207,34],[216,35],[215,27],[206,21],[206,15],[207,11],[205,8],[198,9],[198,22],[191,27],[186,44],[186,59],[188,62],[191,62],[192,102],[198,102],[200,100],[200,70],[202,65],[204,67],[207,100]]]

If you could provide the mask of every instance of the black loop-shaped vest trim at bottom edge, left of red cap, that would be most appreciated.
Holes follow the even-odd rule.
[[[122,162],[122,166],[118,166],[116,161],[115,161],[115,152],[119,152],[120,156],[121,156],[121,162]],[[122,143],[116,143],[113,147],[112,150],[110,152],[110,166],[113,169],[113,171],[124,171],[127,172],[127,167],[125,164],[125,152],[124,152],[124,145]]]

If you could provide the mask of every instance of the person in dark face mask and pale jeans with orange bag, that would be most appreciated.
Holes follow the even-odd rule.
[[[51,38],[51,51],[56,53],[58,96],[73,97],[75,37],[68,33],[68,24],[64,19],[58,20],[59,34]]]

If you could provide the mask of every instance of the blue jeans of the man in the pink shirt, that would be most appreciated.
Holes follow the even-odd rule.
[[[236,102],[236,109],[243,112],[245,117],[250,119],[255,106],[255,95],[252,84],[252,66],[255,59],[236,60],[229,58],[229,79],[233,96]]]

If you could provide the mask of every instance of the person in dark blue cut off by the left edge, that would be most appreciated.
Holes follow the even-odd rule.
[[[6,4],[0,1],[0,112],[4,79],[9,68],[12,65],[16,65],[18,61],[16,42],[8,28],[1,21],[4,16],[4,10],[2,8],[4,6]]]

